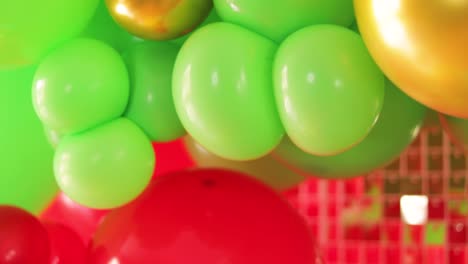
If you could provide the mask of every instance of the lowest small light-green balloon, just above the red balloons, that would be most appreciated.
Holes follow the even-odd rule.
[[[154,151],[133,122],[116,119],[83,133],[65,136],[54,170],[62,191],[92,208],[114,208],[136,198],[151,180]]]

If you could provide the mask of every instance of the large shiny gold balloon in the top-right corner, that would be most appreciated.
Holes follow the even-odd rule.
[[[370,53],[415,100],[468,117],[468,0],[354,0]]]

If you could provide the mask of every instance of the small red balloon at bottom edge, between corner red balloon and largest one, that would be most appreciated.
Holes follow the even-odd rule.
[[[73,230],[52,222],[44,222],[44,227],[51,243],[51,264],[86,264],[86,247]]]

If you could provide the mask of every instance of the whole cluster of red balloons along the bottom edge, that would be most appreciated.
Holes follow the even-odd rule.
[[[63,195],[54,207],[39,220],[0,206],[0,263],[323,263],[307,224],[291,205],[237,172],[168,173],[110,212],[73,205]],[[74,224],[80,236],[51,222],[61,219]]]

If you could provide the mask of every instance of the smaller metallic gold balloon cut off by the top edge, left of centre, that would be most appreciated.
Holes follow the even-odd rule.
[[[167,40],[194,30],[210,13],[211,0],[106,0],[112,17],[135,36]]]

